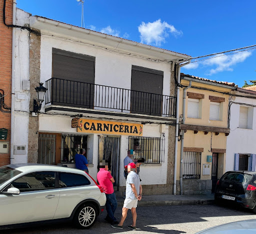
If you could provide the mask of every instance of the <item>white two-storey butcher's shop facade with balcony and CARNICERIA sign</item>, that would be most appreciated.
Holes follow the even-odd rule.
[[[16,30],[11,163],[74,167],[75,153],[85,148],[89,174],[96,178],[99,161],[108,159],[122,190],[123,159],[133,149],[135,160],[145,158],[144,194],[170,193],[176,103],[171,61],[189,56],[20,9],[16,18],[40,35]],[[35,114],[39,82],[47,91]],[[72,119],[78,127],[71,127]]]

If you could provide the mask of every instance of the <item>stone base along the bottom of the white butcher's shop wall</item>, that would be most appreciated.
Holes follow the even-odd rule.
[[[125,186],[120,186],[119,191],[125,191]],[[143,195],[165,195],[173,194],[173,184],[142,185]]]

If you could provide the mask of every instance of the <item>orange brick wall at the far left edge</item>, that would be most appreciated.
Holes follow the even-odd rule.
[[[11,45],[12,28],[6,27],[2,21],[3,0],[0,0],[0,89],[3,89],[4,103],[11,104]],[[5,22],[12,24],[12,0],[6,0]],[[9,143],[8,153],[0,153],[0,166],[10,163],[10,113],[0,111],[0,128],[8,129],[7,139],[0,140]]]

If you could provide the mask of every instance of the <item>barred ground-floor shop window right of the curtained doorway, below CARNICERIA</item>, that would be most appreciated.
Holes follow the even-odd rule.
[[[133,159],[145,158],[145,163],[164,161],[164,142],[160,137],[129,136],[128,149],[133,149]]]

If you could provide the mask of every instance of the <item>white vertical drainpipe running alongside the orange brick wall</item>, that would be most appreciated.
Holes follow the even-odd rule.
[[[12,1],[12,24],[16,25],[16,0]],[[15,102],[15,42],[16,28],[12,27],[12,54],[11,54],[11,111],[10,111],[10,163],[14,162],[14,102]]]

